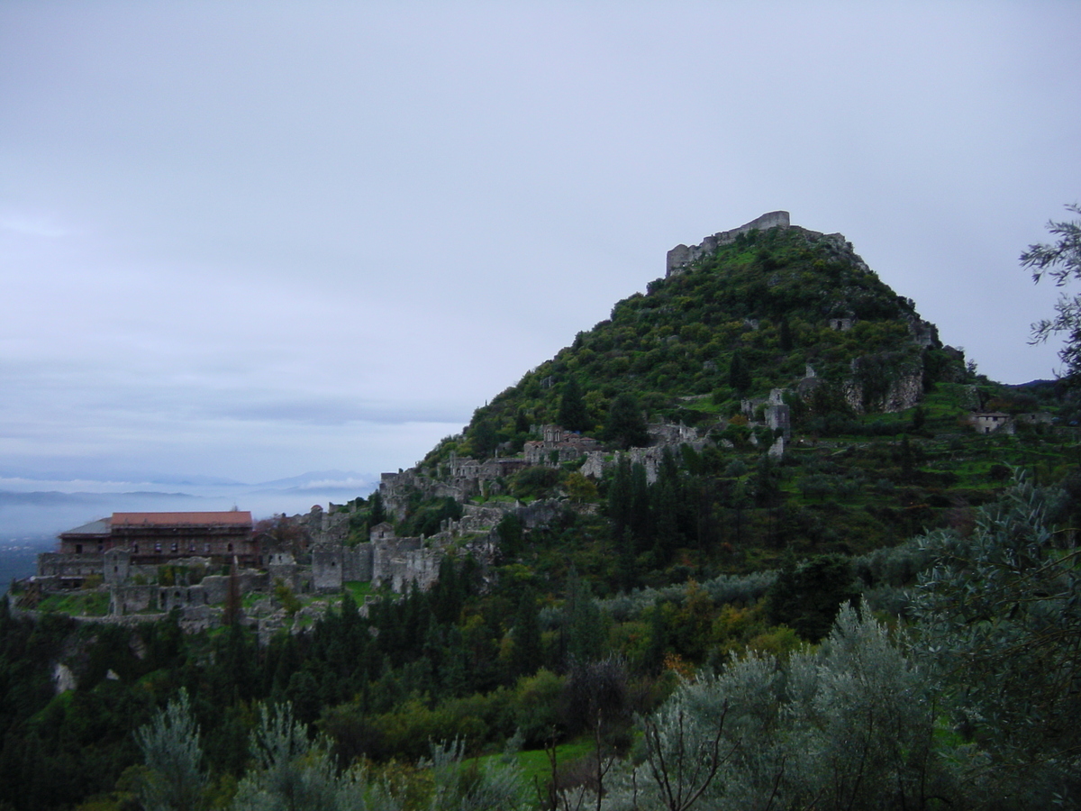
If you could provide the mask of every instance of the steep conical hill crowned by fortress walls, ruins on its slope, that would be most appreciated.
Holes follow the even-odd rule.
[[[544,526],[506,519],[501,559],[605,594],[868,554],[966,520],[1009,465],[1062,475],[1053,386],[977,375],[843,236],[753,225],[673,249],[665,278],[386,477],[381,517],[432,534],[462,505],[555,500]],[[368,505],[347,508],[366,537]]]

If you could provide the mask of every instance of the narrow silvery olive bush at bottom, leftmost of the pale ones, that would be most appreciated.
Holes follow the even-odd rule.
[[[202,768],[199,726],[186,690],[135,731],[147,767],[139,800],[147,811],[190,811],[199,807],[206,772]]]

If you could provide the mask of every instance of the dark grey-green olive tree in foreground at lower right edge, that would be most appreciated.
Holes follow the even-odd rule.
[[[935,563],[915,604],[976,749],[969,781],[1058,786],[1047,797],[1081,773],[1081,550],[1050,524],[1054,496],[1018,480],[970,537],[924,537]]]

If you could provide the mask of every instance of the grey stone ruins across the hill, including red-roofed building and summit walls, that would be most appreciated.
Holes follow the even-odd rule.
[[[666,276],[683,272],[742,234],[770,228],[799,229],[790,224],[788,212],[769,212],[738,228],[707,237],[700,244],[671,249]],[[830,254],[870,272],[843,236],[814,237],[825,239]],[[854,320],[835,315],[824,319],[822,328],[848,331],[853,329]],[[745,327],[759,329],[750,318],[745,320]],[[908,329],[917,347],[939,345],[932,324],[913,316]],[[842,386],[855,411],[867,407],[859,384],[862,360],[852,362],[851,380]],[[805,398],[820,383],[808,365],[804,376],[793,381],[790,388],[743,400],[739,418],[751,428],[762,429],[758,431],[762,439],[752,433],[750,441],[764,442],[761,450],[773,456],[783,454],[791,436],[786,399],[789,395]],[[911,408],[922,397],[922,369],[900,370],[877,397],[877,410]],[[988,422],[992,427],[983,430],[989,433],[998,424]],[[612,452],[597,439],[561,426],[534,425],[530,430],[533,438],[515,455],[509,455],[509,447],[501,449],[507,455],[490,458],[451,452],[438,463],[383,474],[378,494],[391,520],[370,528],[359,500],[332,504],[326,509],[316,506],[306,515],[289,519],[282,516],[275,519],[272,527],[262,529],[249,513],[240,511],[117,513],[63,533],[59,550],[40,556],[37,576],[24,584],[19,600],[22,608],[32,609],[36,599],[50,594],[93,588],[108,595],[107,613],[96,616],[98,621],[137,622],[178,609],[188,627],[209,627],[222,621],[226,603],[239,596],[245,600],[248,621],[257,624],[261,633],[271,634],[289,624],[281,600],[275,596],[283,588],[295,595],[335,595],[348,584],[361,583],[371,590],[368,599],[382,599],[381,595],[402,593],[414,585],[428,588],[439,577],[440,566],[448,557],[471,556],[482,568],[496,562],[498,527],[507,516],[530,529],[544,526],[565,510],[597,508],[596,504],[573,503],[565,494],[531,503],[515,500],[507,482],[523,468],[574,464],[584,476],[599,479],[626,456],[640,463],[646,480],[652,482],[667,448],[689,444],[702,451],[710,442],[731,447],[720,436],[726,426],[728,421],[722,418],[702,427],[655,423],[648,426],[646,447]],[[453,500],[461,505],[461,517],[444,519],[438,532],[427,536],[398,536],[393,521],[402,521],[412,506],[431,498]],[[364,529],[368,536],[358,537]]]

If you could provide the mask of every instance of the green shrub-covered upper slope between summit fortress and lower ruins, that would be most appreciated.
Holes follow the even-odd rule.
[[[831,327],[837,319],[845,329]],[[746,370],[742,380],[733,363]],[[620,394],[633,395],[651,418],[698,424],[737,413],[742,397],[793,386],[809,364],[835,393],[857,384],[853,406],[870,411],[882,409],[902,377],[917,377],[926,390],[964,376],[960,353],[944,348],[912,302],[840,235],[752,230],[616,304],[610,319],[478,409],[471,441],[458,450],[494,452],[484,440],[493,429],[520,448],[528,425],[558,422],[572,380],[586,404],[585,433],[598,435]]]

